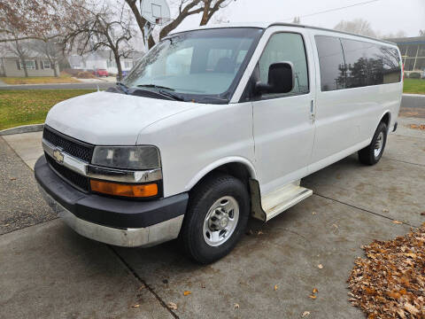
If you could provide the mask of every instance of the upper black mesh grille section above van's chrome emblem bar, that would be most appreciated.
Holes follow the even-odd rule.
[[[64,136],[58,131],[55,131],[53,128],[49,128],[47,126],[44,126],[42,138],[50,142],[50,144],[60,147],[64,150],[64,152],[67,152],[78,159],[82,159],[88,163],[91,161],[95,148],[92,144],[83,143],[72,137]]]

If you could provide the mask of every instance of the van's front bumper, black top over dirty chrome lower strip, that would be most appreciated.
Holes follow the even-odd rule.
[[[127,247],[158,245],[178,237],[188,194],[150,201],[107,198],[78,191],[49,167],[35,163],[35,180],[47,203],[84,237]]]

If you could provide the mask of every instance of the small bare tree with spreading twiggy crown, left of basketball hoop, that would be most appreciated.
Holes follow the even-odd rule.
[[[67,26],[63,43],[69,51],[76,50],[80,55],[109,49],[118,68],[118,78],[122,78],[121,58],[128,58],[133,52],[130,39],[135,35],[133,14],[126,4],[116,5],[104,1],[102,4],[85,4],[84,18]]]

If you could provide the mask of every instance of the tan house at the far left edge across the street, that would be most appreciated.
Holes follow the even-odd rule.
[[[20,61],[13,53],[0,52],[0,76],[23,77],[24,63],[27,66],[28,76],[54,76],[55,71],[49,59],[42,57],[39,53],[30,51],[24,62]],[[57,74],[59,67],[56,66]]]

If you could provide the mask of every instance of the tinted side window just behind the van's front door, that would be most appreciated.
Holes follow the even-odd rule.
[[[317,35],[315,39],[321,66],[321,90],[344,89],[344,54],[339,38]]]

